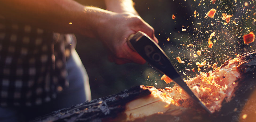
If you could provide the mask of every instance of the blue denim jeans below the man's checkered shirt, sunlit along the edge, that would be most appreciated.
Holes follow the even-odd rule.
[[[56,99],[32,107],[0,107],[0,122],[29,121],[52,111],[91,100],[89,78],[75,49],[71,50],[67,68],[69,88],[57,94]]]

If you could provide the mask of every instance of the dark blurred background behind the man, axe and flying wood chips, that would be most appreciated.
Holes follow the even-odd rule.
[[[105,8],[104,2],[100,0],[78,2]],[[139,15],[155,29],[159,46],[163,48],[185,79],[196,76],[196,73],[199,74],[195,62],[201,63],[207,60],[207,64],[212,65],[216,62],[217,66],[220,66],[225,60],[237,54],[256,49],[255,42],[248,45],[243,43],[243,35],[256,29],[256,22],[253,22],[256,18],[253,15],[256,12],[253,1],[247,1],[249,6],[244,6],[245,1],[239,0],[236,3],[217,0],[215,4],[210,0],[134,0],[134,2]],[[217,10],[214,18],[204,18],[211,8]],[[196,18],[195,10],[199,14]],[[223,24],[225,20],[222,20],[222,12],[233,14],[227,25]],[[175,20],[172,19],[173,14],[176,16]],[[182,28],[186,31],[181,31]],[[216,43],[213,44],[213,48],[208,48],[208,38],[212,32],[216,33],[212,39],[212,41],[216,40]],[[172,83],[165,84],[161,81],[163,74],[149,64],[111,63],[107,60],[106,49],[101,41],[76,36],[78,40],[76,50],[89,75],[92,99],[116,94],[136,85],[153,85],[157,88],[173,86]],[[170,41],[166,40],[168,37]],[[194,47],[186,46],[190,43]],[[195,51],[201,48],[202,55],[194,58]],[[180,56],[185,64],[179,64],[175,59],[177,56]],[[195,72],[187,71],[185,68],[195,68]],[[209,70],[212,68],[207,66],[201,68],[203,72]]]

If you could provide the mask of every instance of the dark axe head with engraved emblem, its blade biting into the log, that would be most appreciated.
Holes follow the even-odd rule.
[[[182,80],[165,52],[147,34],[138,31],[137,33],[129,36],[127,43],[131,49],[141,55],[142,58],[152,66],[170,77],[176,85],[182,88],[192,99],[201,104],[206,112],[211,114],[209,109],[195,96],[193,91],[191,91],[187,84]]]

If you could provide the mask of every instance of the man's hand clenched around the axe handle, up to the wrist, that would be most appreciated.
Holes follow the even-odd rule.
[[[146,61],[127,44],[127,38],[138,31],[146,33],[158,43],[154,29],[141,17],[130,13],[109,14],[107,20],[99,22],[99,38],[110,51],[108,59],[117,64],[135,62],[144,64]]]

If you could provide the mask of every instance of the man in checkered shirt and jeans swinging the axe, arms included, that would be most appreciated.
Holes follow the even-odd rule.
[[[107,10],[73,0],[0,2],[0,121],[27,121],[91,99],[75,37],[66,33],[98,38],[117,64],[145,63],[126,41],[142,31],[158,42],[154,29],[131,0],[105,2]]]

